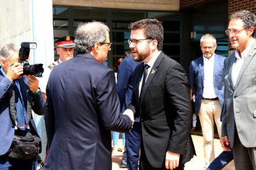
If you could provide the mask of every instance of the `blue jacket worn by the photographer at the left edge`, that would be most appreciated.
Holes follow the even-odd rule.
[[[1,66],[0,66],[1,68]],[[20,90],[22,93],[22,98],[24,105],[27,105],[27,93],[31,92],[29,90],[29,86],[27,85],[28,79],[25,76],[18,79],[20,84]],[[14,125],[12,124],[9,107],[10,107],[10,97],[9,92],[12,86],[14,86],[14,82],[10,79],[6,78],[2,71],[0,71],[0,155],[4,155],[12,144],[12,139],[14,137]],[[43,95],[41,92],[38,94],[32,94],[33,103],[32,110],[35,111],[37,115],[45,114],[45,100],[43,99]],[[33,120],[33,116],[31,115],[30,129],[34,130],[36,135],[36,126]]]

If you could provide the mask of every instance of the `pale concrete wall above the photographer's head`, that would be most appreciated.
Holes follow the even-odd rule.
[[[32,41],[31,1],[0,1],[0,47]]]

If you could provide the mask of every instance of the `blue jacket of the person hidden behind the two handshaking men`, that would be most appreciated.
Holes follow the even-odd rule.
[[[132,100],[132,76],[134,75],[134,70],[139,63],[140,62],[134,61],[134,56],[129,56],[122,60],[119,66],[116,89],[122,113],[124,113]],[[135,121],[139,121],[139,119],[135,119]]]

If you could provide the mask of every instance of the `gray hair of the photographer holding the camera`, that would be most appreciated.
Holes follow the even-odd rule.
[[[10,57],[15,53],[19,52],[19,47],[16,44],[6,44],[5,46],[2,47],[0,50],[0,60],[9,60]]]

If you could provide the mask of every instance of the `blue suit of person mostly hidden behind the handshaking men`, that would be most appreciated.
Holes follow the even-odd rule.
[[[130,56],[122,60],[117,73],[117,93],[119,96],[122,113],[132,101],[132,76],[134,70],[140,62],[135,62],[134,57]],[[140,152],[140,118],[135,119],[132,131],[126,133],[126,153],[127,169],[138,169],[138,159]],[[125,156],[125,153],[124,153]],[[123,158],[124,158],[123,156]],[[142,164],[140,163],[140,169]]]

